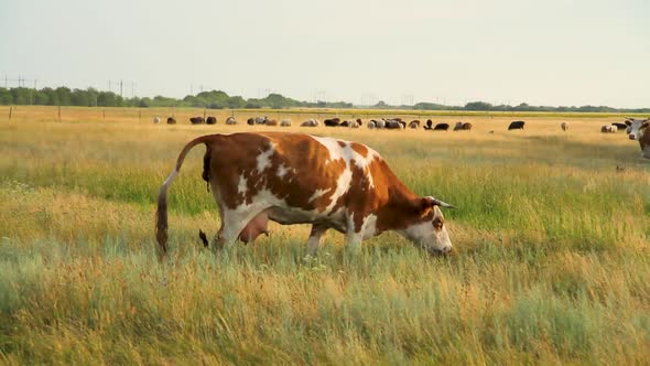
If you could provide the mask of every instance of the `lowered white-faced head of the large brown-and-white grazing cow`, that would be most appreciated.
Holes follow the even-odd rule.
[[[426,249],[432,255],[451,251],[452,240],[449,240],[445,217],[440,207],[456,207],[432,196],[418,198],[414,206],[416,217],[409,223],[402,234],[415,246]]]

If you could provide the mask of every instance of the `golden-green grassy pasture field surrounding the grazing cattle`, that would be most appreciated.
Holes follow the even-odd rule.
[[[517,116],[475,114],[462,117],[472,131],[431,132],[300,128],[306,110],[268,111],[290,128],[247,126],[259,111],[237,111],[238,126],[224,126],[230,111],[189,126],[203,115],[189,109],[174,111],[176,126],[151,123],[169,109],[8,114],[1,364],[650,360],[650,161],[625,133],[599,132],[620,117],[528,116],[508,132]],[[275,224],[253,244],[205,250],[197,232],[214,235],[218,215],[198,147],[170,190],[172,252],[159,263],[154,201],[182,147],[266,130],[369,144],[413,191],[459,207],[444,211],[454,254],[383,234],[349,258],[331,230],[305,259],[308,227]]]

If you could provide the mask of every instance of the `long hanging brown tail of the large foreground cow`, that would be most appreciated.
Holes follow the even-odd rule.
[[[214,134],[209,136],[202,136],[189,141],[181,154],[178,154],[178,159],[176,160],[176,166],[172,171],[172,173],[167,176],[164,183],[161,185],[160,191],[158,193],[158,209],[155,212],[155,239],[158,240],[158,257],[159,259],[163,259],[167,254],[167,190],[178,172],[181,171],[181,166],[183,165],[183,161],[185,160],[185,155],[197,144],[205,143],[210,141],[214,138]]]

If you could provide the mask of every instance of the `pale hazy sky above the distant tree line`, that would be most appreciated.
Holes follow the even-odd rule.
[[[0,0],[0,86],[650,107],[648,0]]]

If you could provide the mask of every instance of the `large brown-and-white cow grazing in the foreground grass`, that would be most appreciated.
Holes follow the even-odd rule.
[[[351,141],[301,133],[208,134],[189,141],[160,187],[155,223],[158,252],[167,252],[167,191],[185,157],[205,144],[203,179],[219,208],[216,248],[253,241],[269,220],[312,224],[307,254],[315,255],[328,229],[346,235],[358,250],[362,240],[393,230],[432,255],[452,250],[441,207],[419,196],[390,170],[379,153]],[[204,246],[205,234],[201,233]]]

